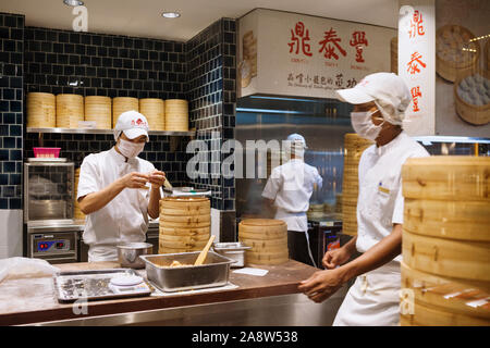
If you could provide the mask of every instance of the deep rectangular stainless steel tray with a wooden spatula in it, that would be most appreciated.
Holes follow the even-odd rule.
[[[196,290],[224,286],[230,276],[230,264],[235,262],[209,251],[201,265],[194,265],[199,251],[140,256],[146,264],[146,276],[152,285],[166,293]],[[185,266],[171,268],[173,261]]]

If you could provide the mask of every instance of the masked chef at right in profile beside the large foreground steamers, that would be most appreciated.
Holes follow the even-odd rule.
[[[400,261],[402,260],[402,165],[408,158],[429,153],[402,129],[411,94],[391,73],[366,76],[357,86],[338,90],[354,104],[351,121],[356,133],[376,141],[359,161],[357,237],[322,260],[328,269],[302,282],[299,290],[322,302],[351,278],[333,325],[397,325],[400,316]],[[355,251],[362,254],[351,262]]]

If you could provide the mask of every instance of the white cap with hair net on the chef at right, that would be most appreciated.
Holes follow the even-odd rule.
[[[342,101],[363,104],[373,101],[384,120],[401,125],[412,96],[402,77],[393,73],[376,73],[364,77],[355,87],[338,89]]]

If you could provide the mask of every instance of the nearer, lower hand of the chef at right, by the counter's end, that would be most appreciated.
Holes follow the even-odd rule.
[[[299,283],[298,290],[317,303],[323,302],[342,287],[340,271],[324,270],[315,272],[309,278]]]

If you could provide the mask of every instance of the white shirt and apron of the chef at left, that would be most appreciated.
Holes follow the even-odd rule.
[[[81,166],[76,199],[99,191],[131,173],[148,173],[155,166],[143,159],[125,157],[114,148],[87,156]],[[83,239],[89,246],[88,261],[118,260],[117,245],[145,241],[148,229],[149,189],[124,188],[102,209],[86,216]]]

